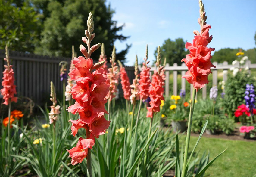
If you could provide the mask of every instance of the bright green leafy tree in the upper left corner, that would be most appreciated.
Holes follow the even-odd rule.
[[[0,49],[10,45],[10,50],[33,52],[39,36],[40,21],[28,1],[0,1]]]

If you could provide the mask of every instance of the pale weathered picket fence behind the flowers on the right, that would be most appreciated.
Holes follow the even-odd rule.
[[[213,86],[217,86],[217,77],[218,77],[218,70],[223,70],[223,71],[227,71],[228,69],[230,69],[231,67],[237,67],[237,68],[245,68],[248,67],[249,70],[248,72],[250,72],[250,69],[256,69],[256,64],[251,64],[251,61],[247,60],[245,62],[245,64],[243,66],[239,66],[239,63],[236,63],[236,65],[229,65],[228,62],[224,61],[223,63],[217,63],[217,62],[213,62],[213,65],[216,66],[216,68],[211,68],[212,70],[212,77],[213,77]],[[150,66],[149,66],[150,67]],[[152,72],[154,72],[155,70],[155,66],[151,67],[150,69],[150,76],[152,75]],[[141,71],[141,66],[139,66],[139,70]],[[177,63],[174,63],[173,66],[169,66],[169,64],[167,63],[165,66],[165,75],[166,78],[170,77],[170,72],[173,72],[173,95],[177,95],[178,90],[177,90],[177,79],[178,79],[178,71],[181,71],[181,75],[185,75],[186,71],[188,70],[188,68],[186,67],[185,63],[182,63],[181,66],[178,66]],[[223,81],[227,80],[227,72],[223,72]],[[186,79],[181,78],[181,89],[182,90],[186,90],[186,84],[189,84]],[[190,84],[190,90],[191,90],[191,94],[192,94],[192,89],[193,89],[193,85]],[[169,84],[169,79],[165,80],[165,96],[166,98],[169,97],[169,93],[170,92],[170,84]],[[205,99],[207,97],[207,84],[202,88],[202,97],[203,99]]]

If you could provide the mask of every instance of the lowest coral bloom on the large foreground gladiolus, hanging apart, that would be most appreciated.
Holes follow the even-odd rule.
[[[69,152],[69,157],[72,158],[71,164],[76,165],[78,163],[82,163],[83,159],[87,156],[88,148],[92,149],[94,144],[94,139],[83,139],[82,137],[80,137],[76,144],[76,147],[67,150]]]

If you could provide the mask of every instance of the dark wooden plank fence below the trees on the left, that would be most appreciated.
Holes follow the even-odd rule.
[[[0,81],[2,82],[5,61],[5,50],[0,50]],[[17,86],[17,95],[31,98],[35,103],[44,105],[50,97],[50,82],[53,81],[57,93],[61,95],[63,83],[60,81],[61,61],[70,63],[70,58],[49,57],[23,52],[10,51],[11,64],[14,69],[14,84]],[[110,63],[108,62],[110,66]],[[69,66],[67,66],[69,68]],[[130,82],[135,78],[134,67],[125,67]],[[68,69],[67,69],[68,70]],[[0,89],[2,85],[0,84]],[[123,95],[121,84],[118,86],[120,96]],[[1,95],[0,95],[1,97]],[[62,97],[61,97],[62,98]]]

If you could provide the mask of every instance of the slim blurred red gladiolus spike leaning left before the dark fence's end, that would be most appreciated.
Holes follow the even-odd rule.
[[[124,99],[130,100],[131,96],[131,88],[130,88],[130,81],[127,76],[127,73],[125,71],[125,68],[120,65],[120,79],[121,79],[121,84],[122,84],[122,89],[123,89],[123,97]]]

